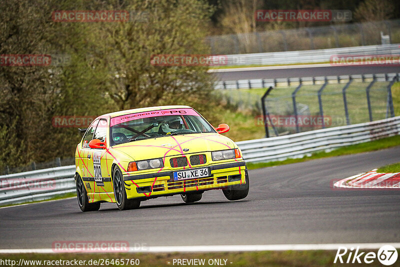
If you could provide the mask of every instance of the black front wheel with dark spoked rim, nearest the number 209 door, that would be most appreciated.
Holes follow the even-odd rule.
[[[115,202],[120,210],[134,209],[140,206],[140,200],[127,198],[122,172],[117,166],[114,167],[112,172],[112,185],[114,187]]]

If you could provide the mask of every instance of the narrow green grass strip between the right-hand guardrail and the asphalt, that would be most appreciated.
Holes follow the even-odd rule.
[[[374,140],[365,143],[343,146],[330,152],[324,152],[324,151],[316,152],[313,153],[311,156],[304,156],[302,158],[289,158],[281,161],[270,161],[270,162],[259,162],[259,163],[248,162],[246,163],[246,165],[248,169],[255,169],[255,168],[270,167],[270,166],[283,165],[289,163],[303,162],[306,160],[323,158],[323,157],[349,155],[361,152],[375,151],[397,145],[400,145],[400,135],[382,138],[379,140]]]

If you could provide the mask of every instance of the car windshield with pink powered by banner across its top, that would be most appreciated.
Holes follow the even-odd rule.
[[[155,112],[151,112],[152,114],[147,112],[142,116],[139,116],[141,113],[134,113],[117,119],[112,118],[111,124],[115,124],[110,127],[111,145],[162,136],[215,132],[213,127],[194,110],[190,114],[160,112],[163,115],[159,116]],[[118,120],[123,122],[117,123]]]

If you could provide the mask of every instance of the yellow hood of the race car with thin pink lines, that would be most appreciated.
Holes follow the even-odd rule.
[[[133,160],[236,148],[236,144],[218,133],[192,133],[137,140],[112,146]],[[188,149],[188,150],[186,150]]]

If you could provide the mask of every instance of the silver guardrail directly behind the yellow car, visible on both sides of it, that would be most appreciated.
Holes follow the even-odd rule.
[[[400,132],[400,116],[285,136],[236,142],[246,162],[283,160],[367,142]],[[0,176],[0,205],[38,201],[75,191],[75,165]]]

